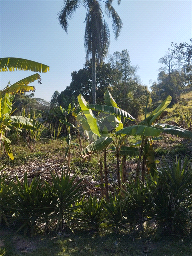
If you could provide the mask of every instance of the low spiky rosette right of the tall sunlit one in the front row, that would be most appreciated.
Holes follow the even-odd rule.
[[[103,200],[97,199],[96,196],[91,196],[88,199],[81,201],[79,205],[81,208],[80,215],[78,216],[79,221],[75,223],[87,228],[93,228],[98,231],[100,225],[105,224],[105,211],[103,210]]]

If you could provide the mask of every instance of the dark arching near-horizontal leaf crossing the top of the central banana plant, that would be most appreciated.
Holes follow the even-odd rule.
[[[107,105],[87,105],[89,109],[95,110],[95,111],[102,111],[105,114],[112,114],[112,115],[118,115],[121,117],[126,117],[130,119],[131,121],[136,120],[133,116],[131,116],[128,112],[112,107],[112,106],[107,106]]]

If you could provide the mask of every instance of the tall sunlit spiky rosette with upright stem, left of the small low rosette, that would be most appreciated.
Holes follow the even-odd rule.
[[[77,173],[72,175],[71,171],[64,172],[62,169],[61,177],[58,174],[51,173],[52,177],[52,195],[53,201],[55,202],[55,209],[51,215],[51,224],[57,221],[56,231],[63,228],[63,221],[66,222],[68,227],[74,233],[70,220],[73,215],[73,210],[77,209],[79,206],[75,203],[80,199],[82,192],[82,185],[80,184],[82,179],[77,180]],[[73,206],[75,205],[75,206]]]

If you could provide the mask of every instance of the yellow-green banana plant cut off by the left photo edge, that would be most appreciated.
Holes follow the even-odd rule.
[[[41,64],[39,62],[21,59],[21,58],[0,58],[0,72],[4,71],[15,71],[17,70],[30,70],[35,72],[47,72],[49,71],[49,66]],[[12,116],[12,102],[17,92],[29,92],[35,91],[34,86],[29,86],[29,84],[35,80],[39,80],[38,83],[41,84],[41,77],[38,73],[26,77],[12,85],[9,84],[1,92],[0,98],[0,146],[1,142],[4,142],[5,151],[9,157],[13,160],[14,156],[11,152],[9,143],[11,141],[5,136],[6,131],[10,130],[9,126],[15,126],[18,128],[30,128],[35,130],[37,127],[30,118],[22,116]]]

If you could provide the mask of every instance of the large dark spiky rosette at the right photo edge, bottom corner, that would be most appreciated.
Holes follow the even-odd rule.
[[[155,180],[151,177],[157,231],[188,233],[191,221],[191,166],[186,157],[167,162],[163,159]],[[153,191],[152,191],[153,190]]]

